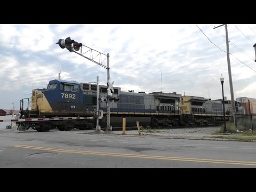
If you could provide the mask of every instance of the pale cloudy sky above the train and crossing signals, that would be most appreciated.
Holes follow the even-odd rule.
[[[121,91],[222,99],[222,74],[225,97],[231,99],[225,26],[213,29],[219,25],[0,25],[0,109],[19,110],[20,99],[46,88],[60,71],[61,79],[88,83],[99,76],[99,83],[107,84],[105,68],[55,44],[68,36],[109,53],[110,81]],[[256,98],[256,25],[229,24],[228,37],[234,98]],[[89,50],[85,48],[83,53]],[[90,57],[90,51],[84,55]],[[93,52],[99,62],[96,56]]]

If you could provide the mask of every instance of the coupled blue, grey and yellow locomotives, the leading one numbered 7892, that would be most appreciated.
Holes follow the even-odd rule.
[[[96,120],[92,117],[97,109],[97,99],[101,100],[99,109],[103,111],[100,126],[106,127],[107,88],[107,85],[99,85],[100,95],[97,98],[95,84],[51,80],[46,88],[32,91],[31,99],[26,98],[30,103],[26,109],[23,107],[24,99],[21,100],[19,118],[29,121],[17,122],[19,129],[31,128],[37,131],[93,129]],[[139,121],[141,126],[150,127],[207,125],[223,121],[222,100],[182,96],[176,92],[136,93],[132,90],[121,91],[121,87],[113,87],[113,89],[110,102],[110,125],[113,127],[121,127],[123,117],[126,118],[126,126],[136,126],[136,121]],[[241,103],[239,101],[235,103],[236,113],[243,113],[244,107]],[[232,118],[230,108],[230,101],[225,100],[227,121]],[[55,119],[56,117],[58,119]],[[41,119],[33,120],[36,118]],[[46,118],[47,121],[38,121]]]

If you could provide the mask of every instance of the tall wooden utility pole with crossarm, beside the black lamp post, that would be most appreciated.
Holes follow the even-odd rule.
[[[234,126],[236,126],[235,123],[235,111],[236,111],[236,107],[235,107],[235,99],[234,99],[234,91],[233,91],[233,83],[232,83],[232,75],[231,75],[231,67],[230,67],[230,59],[229,59],[229,41],[228,41],[228,25],[227,24],[222,24],[218,27],[224,26],[225,25],[225,29],[226,29],[226,44],[227,44],[227,60],[228,60],[228,77],[229,77],[229,86],[230,86],[230,95],[231,95],[231,106],[232,106],[232,110],[233,110],[233,120],[234,120]],[[213,27],[213,29],[216,29],[218,27]]]

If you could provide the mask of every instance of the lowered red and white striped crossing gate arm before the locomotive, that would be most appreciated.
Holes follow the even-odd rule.
[[[33,122],[33,121],[52,121],[68,119],[93,119],[94,117],[50,117],[50,118],[25,118],[25,119],[3,119],[0,122]]]

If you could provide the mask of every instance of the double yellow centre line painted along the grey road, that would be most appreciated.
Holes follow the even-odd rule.
[[[227,161],[227,160],[218,160],[218,159],[200,159],[200,158],[185,158],[185,157],[167,157],[167,156],[152,156],[152,155],[137,155],[137,154],[107,153],[107,152],[97,152],[97,151],[46,148],[46,147],[36,147],[36,146],[27,146],[27,145],[15,145],[12,147],[48,150],[48,151],[55,151],[55,152],[61,152],[61,153],[76,153],[76,154],[104,155],[104,156],[116,156],[116,157],[162,159],[162,160],[169,160],[169,161],[188,161],[188,162],[220,163],[220,164],[256,166],[256,162],[244,162],[244,161]]]

